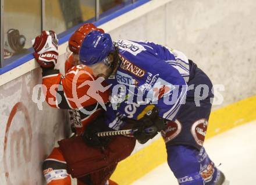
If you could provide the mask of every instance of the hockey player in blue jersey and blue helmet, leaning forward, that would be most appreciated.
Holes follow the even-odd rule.
[[[135,123],[133,135],[141,144],[161,131],[168,165],[179,184],[225,183],[202,146],[214,94],[211,81],[193,61],[152,42],[112,42],[99,31],[84,39],[79,58],[112,84],[105,124],[122,130]],[[99,141],[90,130],[83,137],[91,144]]]

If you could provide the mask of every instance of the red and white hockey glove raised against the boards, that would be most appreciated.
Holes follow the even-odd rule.
[[[58,39],[54,31],[42,31],[32,40],[34,57],[42,68],[54,68],[58,59]]]

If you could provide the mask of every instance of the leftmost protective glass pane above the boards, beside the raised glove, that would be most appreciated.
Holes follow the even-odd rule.
[[[2,67],[29,54],[31,40],[41,33],[40,0],[1,1]]]

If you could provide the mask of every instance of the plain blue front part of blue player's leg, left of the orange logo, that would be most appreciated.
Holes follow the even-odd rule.
[[[179,184],[204,184],[200,175],[201,165],[198,162],[198,150],[184,145],[167,147],[168,165]]]

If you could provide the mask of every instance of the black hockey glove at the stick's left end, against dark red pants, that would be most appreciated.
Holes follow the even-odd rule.
[[[98,137],[97,133],[100,131],[110,131],[111,129],[104,123],[104,116],[99,116],[93,122],[88,124],[82,138],[84,142],[91,147],[107,147],[112,137]]]

